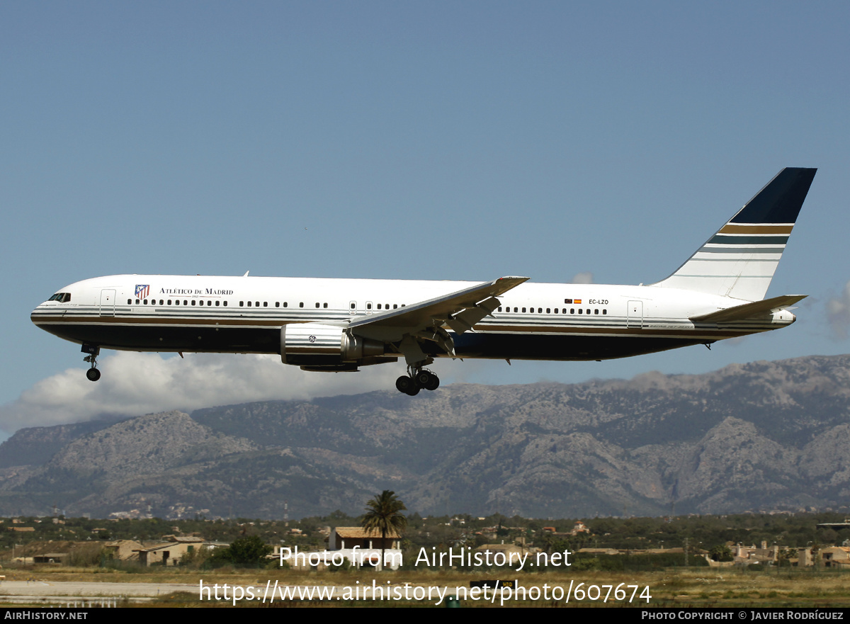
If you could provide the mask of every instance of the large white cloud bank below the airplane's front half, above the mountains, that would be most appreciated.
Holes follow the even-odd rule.
[[[74,368],[42,379],[13,403],[0,406],[0,429],[79,423],[102,415],[138,416],[255,400],[298,399],[394,389],[403,366],[367,366],[360,372],[305,372],[277,355],[118,352],[99,360],[92,383]]]

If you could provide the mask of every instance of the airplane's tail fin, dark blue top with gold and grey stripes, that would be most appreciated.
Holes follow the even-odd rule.
[[[817,171],[786,167],[777,173],[685,264],[653,286],[764,298]]]

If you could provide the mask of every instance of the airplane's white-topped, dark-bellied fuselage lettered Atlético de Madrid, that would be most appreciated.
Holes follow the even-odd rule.
[[[281,353],[282,326],[345,326],[474,284],[110,275],[66,286],[59,292],[67,298],[42,303],[31,319],[61,338],[105,349]],[[456,357],[604,360],[713,343],[795,320],[780,310],[757,320],[694,323],[690,317],[746,302],[655,286],[524,283],[499,296],[499,303],[473,332],[453,334]],[[398,356],[388,351],[367,363]]]

